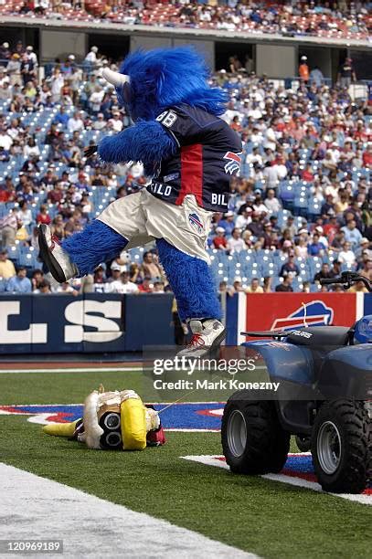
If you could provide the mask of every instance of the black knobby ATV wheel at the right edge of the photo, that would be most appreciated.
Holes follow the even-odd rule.
[[[370,476],[371,420],[364,402],[325,402],[315,417],[312,455],[323,490],[361,493]]]

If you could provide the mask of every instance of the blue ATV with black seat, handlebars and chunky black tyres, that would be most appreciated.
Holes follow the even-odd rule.
[[[372,291],[372,281],[355,272],[321,283],[349,289],[360,281]],[[229,397],[221,437],[231,471],[280,472],[294,435],[300,450],[311,450],[324,490],[365,490],[372,481],[372,315],[352,327],[244,333],[271,337],[244,345],[282,390],[274,396],[241,390]]]

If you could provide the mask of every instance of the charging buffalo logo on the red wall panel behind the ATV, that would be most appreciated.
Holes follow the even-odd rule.
[[[334,310],[327,307],[324,301],[312,301],[303,304],[289,316],[277,318],[271,324],[270,330],[291,330],[303,326],[322,326],[332,324]]]

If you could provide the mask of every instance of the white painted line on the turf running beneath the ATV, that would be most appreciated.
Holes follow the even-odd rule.
[[[303,454],[309,454],[308,452],[303,452]],[[206,464],[206,466],[217,466],[218,468],[229,469],[228,464],[225,462],[224,459],[219,459],[223,457],[216,457],[216,456],[208,456],[208,455],[201,455],[201,456],[180,456],[182,459],[191,460],[193,462],[199,462],[201,464]],[[319,483],[315,483],[315,481],[308,481],[303,480],[302,478],[292,478],[291,476],[286,476],[284,474],[266,474],[264,476],[260,476],[260,478],[264,478],[265,480],[271,481],[281,481],[282,483],[288,483],[289,485],[296,485],[297,487],[303,487],[305,489],[310,489],[314,491],[323,492],[324,495],[333,495],[334,497],[342,497],[343,499],[347,499],[348,501],[355,501],[360,502],[361,504],[372,505],[372,496],[371,495],[352,495],[351,493],[326,493],[322,490],[322,487]]]

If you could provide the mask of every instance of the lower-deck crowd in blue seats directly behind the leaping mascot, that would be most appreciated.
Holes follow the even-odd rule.
[[[38,224],[68,237],[146,178],[140,163],[102,166],[84,155],[131,123],[101,79],[110,62],[96,47],[89,67],[80,69],[70,55],[39,82],[34,49],[19,42],[7,48],[9,62],[0,68],[0,291],[169,290],[152,247],[123,251],[94,276],[62,286],[42,268]],[[309,70],[291,89],[254,71],[211,78],[228,92],[223,118],[243,141],[229,211],[213,216],[208,238],[221,292],[326,290],[319,279],[343,269],[372,279],[367,95],[352,99],[343,76],[330,87],[320,70]]]

